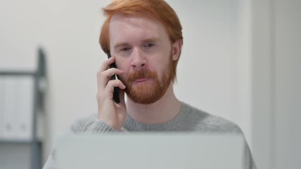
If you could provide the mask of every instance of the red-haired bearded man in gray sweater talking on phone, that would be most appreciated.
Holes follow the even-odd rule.
[[[97,73],[98,115],[72,126],[91,134],[120,131],[187,131],[239,133],[240,128],[179,101],[173,81],[183,45],[177,14],[163,0],[115,0],[99,43],[112,54]],[[109,68],[116,63],[117,68]],[[111,80],[114,74],[119,79]],[[113,100],[119,88],[120,103]],[[124,92],[128,100],[124,101]],[[44,168],[56,168],[54,153]],[[245,144],[244,168],[256,168]]]

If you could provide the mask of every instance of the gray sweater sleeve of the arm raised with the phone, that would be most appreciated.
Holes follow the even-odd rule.
[[[121,128],[121,131],[126,131]],[[71,126],[70,133],[87,133],[87,134],[101,134],[101,133],[114,133],[119,132],[114,130],[112,127],[107,125],[106,123],[95,120],[94,122],[85,122],[85,121],[77,121]],[[44,164],[43,169],[57,169],[56,162],[56,148],[52,151],[52,153],[48,156],[47,161]]]

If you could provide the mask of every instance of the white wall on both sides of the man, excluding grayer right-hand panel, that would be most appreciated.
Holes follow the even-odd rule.
[[[34,69],[38,44],[47,52],[47,144],[81,117],[97,112],[98,45],[109,1],[1,1],[0,69]],[[183,25],[175,93],[180,100],[237,123],[252,146],[248,1],[168,1]],[[196,75],[196,79],[192,79]]]

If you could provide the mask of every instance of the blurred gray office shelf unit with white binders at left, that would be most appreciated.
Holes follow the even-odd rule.
[[[27,84],[31,84],[32,85],[32,90],[29,90],[30,92],[32,92],[32,96],[28,96],[28,98],[32,98],[32,105],[25,105],[26,107],[30,107],[30,112],[29,115],[23,115],[22,112],[20,111],[19,116],[27,116],[27,118],[17,118],[13,115],[14,112],[11,112],[12,116],[10,118],[10,122],[11,124],[8,124],[9,122],[5,121],[5,118],[2,118],[2,126],[0,126],[0,147],[2,147],[2,154],[0,153],[0,156],[4,156],[3,154],[6,153],[5,151],[8,152],[8,155],[10,156],[14,156],[11,155],[11,152],[9,152],[10,150],[16,155],[16,157],[21,156],[22,153],[24,154],[24,152],[19,152],[16,147],[20,147],[20,149],[24,150],[24,151],[29,151],[30,154],[26,155],[26,159],[28,159],[28,164],[29,164],[29,168],[31,169],[41,169],[42,168],[42,146],[43,146],[43,135],[41,135],[40,133],[43,133],[39,130],[43,130],[43,125],[41,123],[38,123],[39,120],[41,120],[39,118],[40,114],[44,113],[44,95],[45,95],[45,89],[47,86],[47,81],[46,81],[46,61],[45,61],[45,54],[43,52],[43,50],[41,48],[38,49],[38,66],[37,69],[33,72],[30,71],[0,71],[0,78],[3,78],[5,81],[5,79],[27,79]],[[13,85],[13,80],[10,81],[10,83],[8,83],[9,85],[7,85],[9,88],[13,89],[13,87],[10,87],[10,85]],[[26,81],[26,80],[25,80]],[[19,85],[20,88],[22,89],[22,84]],[[24,87],[23,87],[24,88]],[[4,88],[4,93],[5,93],[5,89]],[[20,91],[15,91],[15,93],[17,92],[22,92],[20,89]],[[13,91],[13,90],[12,90]],[[14,92],[14,91],[13,91]],[[28,92],[28,91],[27,91]],[[24,93],[23,93],[24,94]],[[25,92],[25,94],[28,94]],[[1,97],[1,93],[0,93],[0,97]],[[6,100],[5,99],[6,96],[3,96],[3,102],[1,103],[0,100],[0,104],[3,104],[4,106],[0,107],[5,107],[5,104],[9,104],[6,107],[11,107],[12,110],[15,110],[16,106],[14,106],[14,102],[10,102],[14,99],[10,99],[10,100]],[[8,98],[13,98],[14,96],[7,96]],[[18,103],[19,104],[26,104],[26,103],[30,103],[31,101],[27,101],[28,99],[26,96],[18,98]],[[25,103],[23,103],[25,102]],[[6,110],[10,110],[9,108],[7,109],[0,109],[0,115],[1,115],[1,111],[3,112],[3,116],[6,116],[6,114],[9,114],[10,112],[7,112]],[[6,114],[5,114],[6,113]],[[28,119],[28,122],[23,122],[24,124],[29,123],[28,125],[23,125],[23,123],[19,126],[19,130],[17,132],[17,130],[15,130],[15,133],[12,135],[6,136],[4,133],[7,132],[9,133],[10,131],[14,132],[14,129],[11,125],[14,125],[14,123],[16,123],[16,119],[24,120],[24,119]],[[1,120],[1,117],[0,117]],[[18,122],[18,121],[17,121]],[[0,123],[1,124],[1,123]],[[39,125],[39,126],[38,126]],[[41,126],[42,125],[42,126]],[[2,127],[2,128],[1,128]],[[30,128],[28,128],[30,127]],[[28,131],[28,133],[23,134],[21,133],[21,131]],[[2,131],[2,132],[1,132]],[[18,135],[19,134],[19,135]],[[11,148],[9,148],[8,146],[10,146]],[[21,151],[21,150],[20,150]],[[24,157],[24,155],[23,155]],[[9,157],[8,157],[9,158]],[[6,159],[6,158],[5,158]],[[26,161],[26,159],[22,159],[22,161]],[[8,159],[9,160],[9,159]],[[17,159],[16,159],[17,160]],[[5,163],[6,162],[6,163]],[[4,167],[8,167],[8,163],[7,161],[5,161],[3,165],[5,165]],[[2,164],[0,164],[0,168],[2,168]],[[26,168],[26,167],[23,167]]]

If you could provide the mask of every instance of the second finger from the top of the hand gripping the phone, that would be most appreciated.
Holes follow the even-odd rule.
[[[108,81],[110,80],[111,76],[114,74],[122,75],[123,71],[116,68],[108,69],[104,72],[97,74],[97,89],[103,90],[107,86]]]

